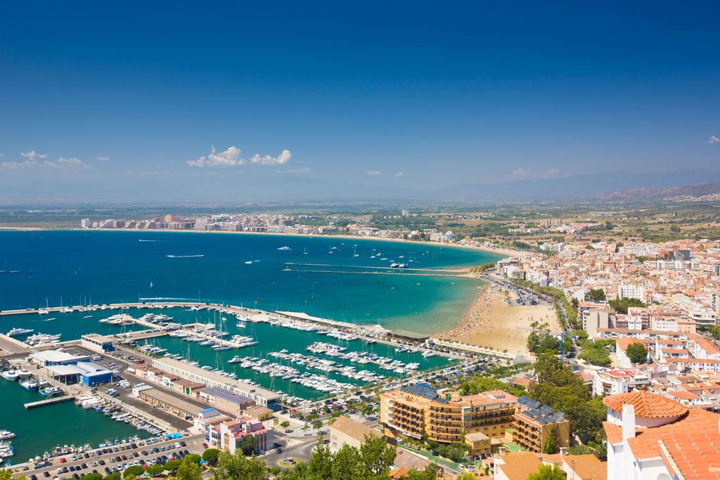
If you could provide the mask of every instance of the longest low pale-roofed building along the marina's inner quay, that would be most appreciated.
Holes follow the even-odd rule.
[[[202,368],[173,360],[172,358],[153,358],[152,364],[153,367],[179,376],[181,379],[194,381],[217,389],[228,390],[235,395],[251,399],[256,404],[268,407],[274,411],[280,409],[282,396],[260,386],[254,386],[242,380],[228,379],[228,377],[222,376],[220,373],[203,370]]]

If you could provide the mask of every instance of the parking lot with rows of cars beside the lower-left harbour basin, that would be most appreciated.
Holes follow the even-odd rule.
[[[130,465],[152,465],[165,463],[172,458],[182,458],[188,453],[202,455],[204,434],[191,437],[166,440],[140,440],[137,443],[113,445],[96,448],[86,453],[68,453],[53,458],[53,462],[40,468],[15,470],[14,476],[25,475],[28,480],[42,479],[79,479],[91,473],[103,476],[122,471]]]

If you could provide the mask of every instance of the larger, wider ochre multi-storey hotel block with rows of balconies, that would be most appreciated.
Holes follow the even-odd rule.
[[[385,435],[423,438],[436,442],[461,442],[463,436],[482,433],[499,438],[516,421],[518,399],[501,390],[460,396],[451,392],[442,397],[426,384],[403,386],[380,394],[380,422]],[[480,435],[469,445],[485,453],[487,442]]]

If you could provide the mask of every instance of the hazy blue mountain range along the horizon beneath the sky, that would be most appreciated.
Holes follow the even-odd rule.
[[[438,189],[401,186],[368,186],[318,178],[225,178],[203,181],[181,178],[132,178],[120,181],[33,181],[0,185],[0,204],[226,204],[255,202],[383,202],[498,204],[531,201],[638,201],[671,196],[717,194],[720,173],[678,171],[672,173],[606,172],[564,178],[518,180],[495,184],[459,184]],[[1,184],[1,182],[0,182]],[[678,186],[683,185],[683,186]],[[609,192],[609,193],[608,193]]]

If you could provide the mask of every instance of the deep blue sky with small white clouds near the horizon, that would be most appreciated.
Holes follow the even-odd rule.
[[[719,14],[670,1],[3,2],[0,202],[717,171]]]

